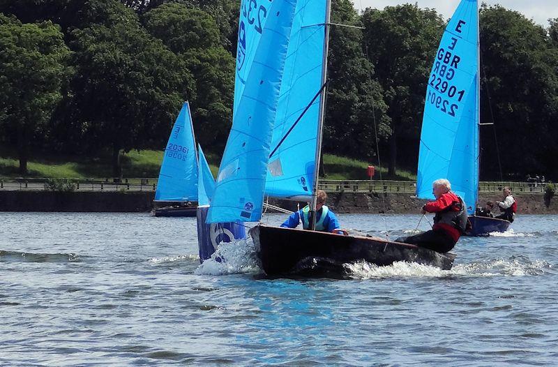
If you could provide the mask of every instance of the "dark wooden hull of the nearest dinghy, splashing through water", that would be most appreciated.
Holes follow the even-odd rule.
[[[343,271],[343,264],[366,261],[378,266],[417,262],[448,270],[455,255],[410,244],[257,225],[250,230],[262,269],[268,276]]]

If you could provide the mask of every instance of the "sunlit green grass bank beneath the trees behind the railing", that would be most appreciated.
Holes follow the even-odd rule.
[[[220,157],[207,153],[206,158],[213,175],[217,174]],[[158,177],[163,151],[142,150],[130,151],[121,157],[123,177]],[[324,172],[320,176],[325,179],[368,179],[366,169],[369,163],[351,158],[324,155]],[[19,161],[10,151],[0,151],[0,177],[20,177],[17,172]],[[60,156],[54,154],[34,154],[27,163],[28,177],[73,178],[112,177],[110,156],[84,158]],[[374,179],[379,179],[376,170]],[[389,177],[385,169],[382,179],[414,180],[414,174],[398,171],[395,177]]]

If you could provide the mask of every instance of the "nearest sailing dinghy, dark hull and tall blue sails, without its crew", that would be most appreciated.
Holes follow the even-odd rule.
[[[310,200],[315,212],[331,1],[254,2],[241,4],[233,126],[209,223],[259,221],[265,194]],[[371,237],[261,223],[250,234],[262,268],[272,276],[338,271],[359,260],[450,269],[455,257]]]

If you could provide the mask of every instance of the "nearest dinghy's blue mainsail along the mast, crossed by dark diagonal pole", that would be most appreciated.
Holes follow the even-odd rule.
[[[315,96],[322,88],[324,72],[326,5],[324,0],[299,0],[296,5],[273,126],[272,151],[312,104],[269,159],[266,194],[271,197],[300,200],[312,195],[321,103],[321,96]]]

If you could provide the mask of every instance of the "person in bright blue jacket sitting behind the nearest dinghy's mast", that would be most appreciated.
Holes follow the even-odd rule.
[[[324,190],[317,191],[316,200],[316,230],[322,232],[338,232],[340,230],[339,220],[337,216],[324,205],[326,203],[327,194]],[[306,205],[303,209],[295,211],[281,227],[296,228],[302,223],[305,230],[310,229],[310,206]]]

